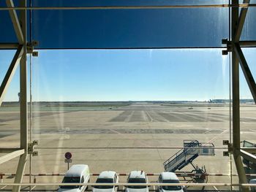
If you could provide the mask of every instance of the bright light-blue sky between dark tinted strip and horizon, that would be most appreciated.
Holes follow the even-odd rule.
[[[13,53],[0,51],[0,80]],[[244,54],[255,74],[256,49]],[[229,59],[219,49],[39,50],[32,66],[33,101],[229,99]],[[4,101],[18,100],[18,78]],[[241,74],[241,99],[251,98]]]

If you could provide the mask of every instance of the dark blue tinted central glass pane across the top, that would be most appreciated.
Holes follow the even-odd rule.
[[[33,6],[206,4],[203,1],[33,1]],[[211,1],[211,3],[227,1]],[[78,19],[83,18],[83,19]],[[228,8],[35,10],[39,48],[221,47],[228,37]],[[58,37],[58,38],[56,38]],[[67,41],[69,37],[72,40]]]

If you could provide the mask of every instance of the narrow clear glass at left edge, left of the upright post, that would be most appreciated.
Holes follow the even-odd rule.
[[[5,74],[15,55],[13,50],[0,50],[0,83],[4,80]],[[17,67],[12,81],[7,88],[4,100],[0,105],[0,146],[1,148],[19,148],[20,147],[20,69]],[[10,153],[10,152],[8,152]],[[7,153],[0,153],[0,157]],[[1,164],[1,173],[15,173],[18,165],[18,158]],[[14,177],[3,177],[4,183],[11,183]],[[4,186],[3,186],[4,187]],[[1,187],[2,188],[2,187]],[[4,187],[4,190],[10,187]]]

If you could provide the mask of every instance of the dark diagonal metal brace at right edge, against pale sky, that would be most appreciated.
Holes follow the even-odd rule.
[[[251,91],[252,97],[255,100],[255,104],[256,104],[256,84],[255,84],[255,80],[252,76],[252,72],[249,69],[249,66],[246,62],[246,59],[245,59],[244,54],[241,50],[241,47],[237,43],[235,43],[234,44],[234,49],[235,49],[236,55],[238,57],[241,69],[244,72],[244,77],[245,77],[246,82],[249,86],[249,90]]]

